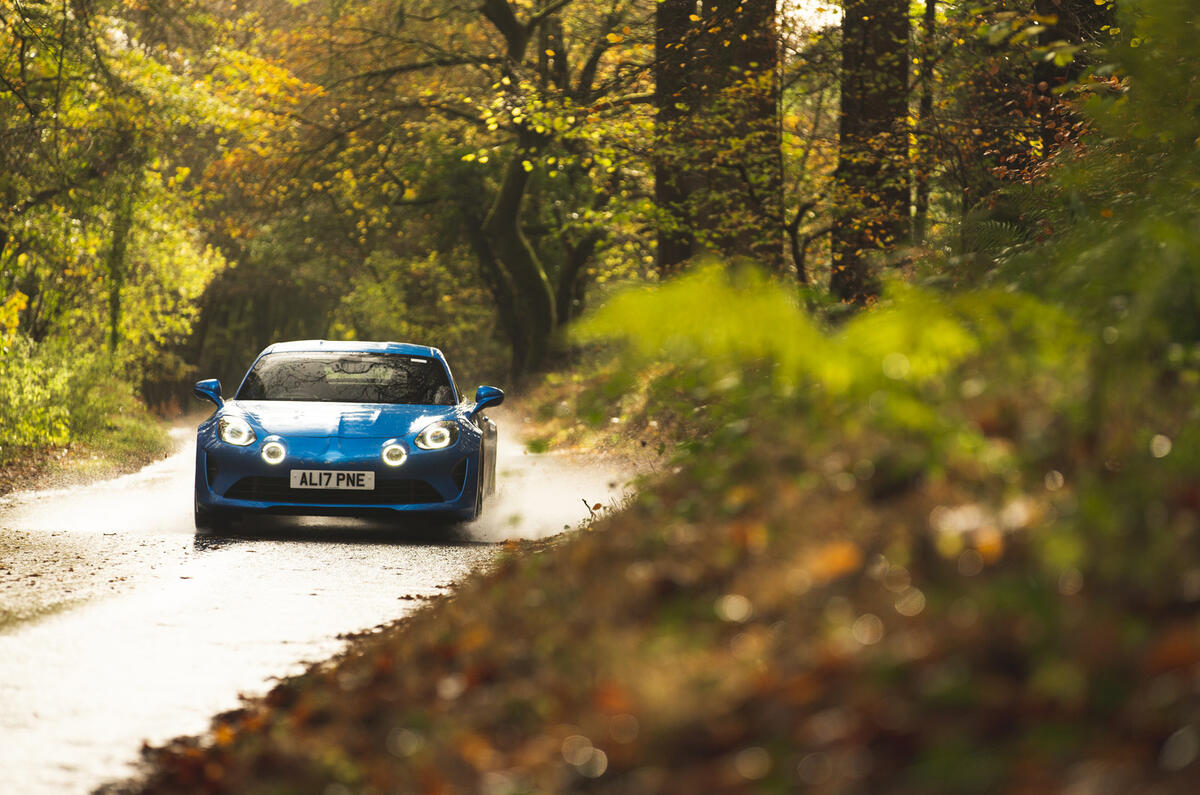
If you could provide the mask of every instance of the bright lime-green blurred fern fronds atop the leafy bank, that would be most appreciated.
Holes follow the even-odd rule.
[[[828,329],[762,274],[715,264],[616,297],[575,335],[624,340],[635,369],[665,361],[672,377],[694,373],[697,402],[715,393],[734,411],[766,411],[744,404],[752,393],[788,400],[797,420],[828,426],[860,417],[937,442],[973,432],[941,405],[984,365],[1060,367],[1064,395],[1078,391],[1086,360],[1069,316],[1032,297],[894,282],[872,311]],[[763,378],[769,393],[755,388]]]

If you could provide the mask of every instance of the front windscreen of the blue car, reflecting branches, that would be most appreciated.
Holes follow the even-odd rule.
[[[450,406],[454,389],[437,359],[398,353],[269,353],[246,375],[238,400]]]

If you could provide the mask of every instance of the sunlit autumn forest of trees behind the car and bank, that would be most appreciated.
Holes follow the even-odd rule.
[[[1080,108],[1129,104],[1126,55],[1186,56],[1094,0],[839,11],[4,2],[0,456],[278,339],[518,378],[612,286],[704,257],[830,317],[894,276],[995,281],[1129,201],[1079,184],[1124,162]]]

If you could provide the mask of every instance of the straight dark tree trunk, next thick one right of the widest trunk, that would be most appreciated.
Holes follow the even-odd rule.
[[[830,291],[863,304],[878,292],[872,255],[908,232],[908,4],[847,0]]]

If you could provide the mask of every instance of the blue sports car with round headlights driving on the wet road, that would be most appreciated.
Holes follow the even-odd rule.
[[[277,342],[229,400],[216,378],[196,394],[217,410],[196,436],[196,527],[247,513],[479,515],[496,490],[504,401],[463,401],[437,348],[401,342]]]

